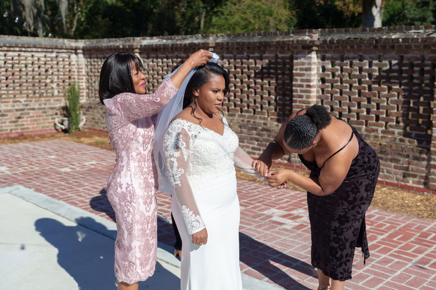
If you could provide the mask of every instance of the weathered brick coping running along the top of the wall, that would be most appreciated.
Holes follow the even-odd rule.
[[[217,33],[194,34],[157,37],[124,37],[91,40],[53,39],[41,37],[17,37],[0,35],[0,46],[10,47],[58,47],[65,49],[92,49],[95,47],[113,47],[117,49],[129,47],[161,47],[168,45],[187,47],[214,47],[215,43],[246,46],[252,43],[269,45],[338,43],[346,40],[361,39],[362,43],[415,43],[436,42],[435,25],[393,26],[363,28],[307,29],[293,31],[249,32],[249,33]],[[5,41],[6,40],[6,41]]]

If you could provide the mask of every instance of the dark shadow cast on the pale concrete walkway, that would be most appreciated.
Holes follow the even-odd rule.
[[[107,231],[105,226],[90,217],[78,218],[76,222],[91,225],[90,228],[97,232]],[[116,289],[113,240],[79,224],[65,226],[51,218],[36,220],[35,228],[58,249],[58,264],[74,278],[79,289]],[[165,280],[166,285],[180,285],[177,276],[157,263],[155,274],[145,282],[140,282],[140,289],[157,289],[155,286],[149,288],[150,284],[156,285],[162,280]]]

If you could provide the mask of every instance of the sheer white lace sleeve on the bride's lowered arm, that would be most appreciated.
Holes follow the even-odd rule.
[[[178,206],[183,215],[189,234],[204,229],[203,219],[195,202],[194,194],[188,180],[191,151],[190,134],[181,126],[174,126],[173,122],[164,136],[164,159],[167,175],[173,187]]]

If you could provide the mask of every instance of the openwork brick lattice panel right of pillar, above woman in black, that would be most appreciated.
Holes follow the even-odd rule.
[[[434,62],[425,56],[321,55],[320,68],[318,98],[338,117],[429,147]]]

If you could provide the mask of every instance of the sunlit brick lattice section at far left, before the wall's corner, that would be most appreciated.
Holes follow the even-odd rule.
[[[0,136],[53,128],[54,117],[65,105],[65,90],[75,80],[72,56],[74,51],[60,49],[2,48]]]

